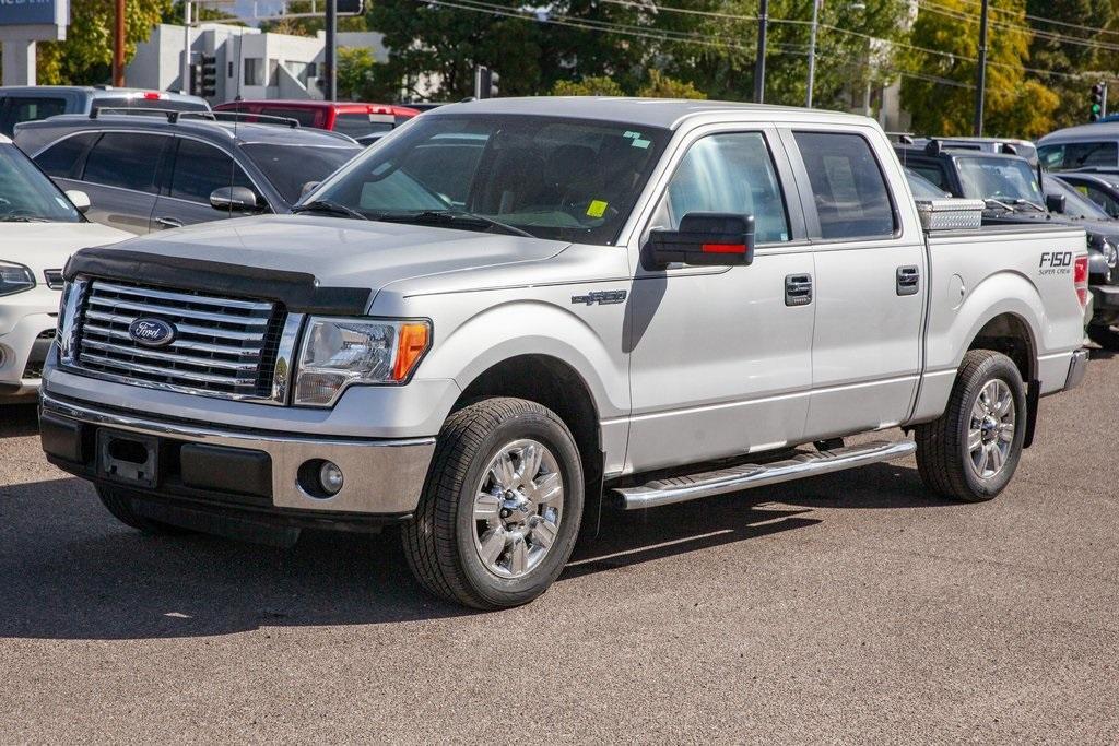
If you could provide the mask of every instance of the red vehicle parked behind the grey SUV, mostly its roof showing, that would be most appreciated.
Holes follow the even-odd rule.
[[[420,112],[393,104],[349,101],[232,101],[214,107],[219,112],[266,114],[293,119],[302,126],[341,132],[369,145]],[[252,121],[252,120],[250,120]]]

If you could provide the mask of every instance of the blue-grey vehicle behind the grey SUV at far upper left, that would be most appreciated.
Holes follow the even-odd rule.
[[[0,87],[0,133],[10,138],[21,122],[36,122],[57,114],[88,114],[102,107],[209,111],[205,98],[168,91],[111,86],[3,86]]]

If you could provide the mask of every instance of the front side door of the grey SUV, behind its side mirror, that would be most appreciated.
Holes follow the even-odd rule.
[[[167,178],[152,213],[152,230],[242,216],[210,206],[210,193],[220,187],[248,187],[260,196],[252,179],[226,151],[190,138],[175,141],[175,154],[168,158]]]

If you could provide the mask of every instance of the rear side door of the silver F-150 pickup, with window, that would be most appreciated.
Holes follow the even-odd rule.
[[[782,134],[816,258],[806,440],[896,425],[916,393],[929,281],[914,210],[894,202],[904,177],[871,129]]]

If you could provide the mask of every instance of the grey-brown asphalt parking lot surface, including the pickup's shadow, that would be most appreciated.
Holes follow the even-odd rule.
[[[0,410],[0,739],[1119,739],[1119,359],[986,504],[912,460],[610,514],[536,603],[396,537],[148,537]],[[896,433],[892,435],[899,435]]]

